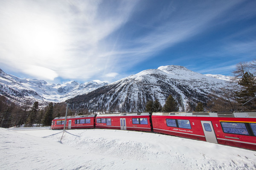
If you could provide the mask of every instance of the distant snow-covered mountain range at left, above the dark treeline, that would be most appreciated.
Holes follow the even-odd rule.
[[[0,69],[0,94],[9,99],[25,103],[35,100],[38,102],[64,102],[74,96],[86,94],[103,85],[105,82],[67,82],[64,84],[47,83],[38,79],[20,79],[6,74]]]

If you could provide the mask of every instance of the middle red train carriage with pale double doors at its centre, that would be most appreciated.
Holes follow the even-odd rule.
[[[96,128],[151,131],[149,113],[115,113],[96,116]]]

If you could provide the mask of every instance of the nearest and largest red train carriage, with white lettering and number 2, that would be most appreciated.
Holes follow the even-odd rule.
[[[256,150],[256,112],[152,113],[154,132]]]

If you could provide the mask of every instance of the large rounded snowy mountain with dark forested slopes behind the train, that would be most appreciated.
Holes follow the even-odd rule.
[[[163,106],[172,94],[180,111],[186,111],[198,102],[206,103],[209,94],[221,96],[222,88],[230,89],[231,86],[231,82],[199,74],[183,66],[168,65],[141,71],[68,102],[73,108],[90,111],[141,112],[148,100],[158,99]]]

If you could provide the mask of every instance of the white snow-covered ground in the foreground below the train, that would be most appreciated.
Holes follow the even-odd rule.
[[[255,170],[256,151],[123,130],[0,128],[1,170]]]

